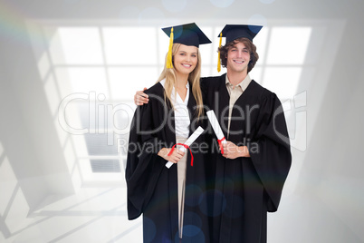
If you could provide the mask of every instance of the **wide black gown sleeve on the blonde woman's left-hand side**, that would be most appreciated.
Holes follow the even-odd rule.
[[[148,203],[158,175],[163,169],[163,160],[158,156],[163,142],[152,131],[154,126],[153,111],[155,104],[139,106],[134,113],[129,133],[127,168],[125,177],[128,188],[128,219],[137,219]]]

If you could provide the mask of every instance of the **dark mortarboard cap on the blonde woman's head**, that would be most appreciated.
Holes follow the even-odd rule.
[[[174,34],[173,43],[194,45],[196,47],[199,44],[211,43],[195,23],[166,27],[162,28],[162,30],[170,37],[172,27]]]

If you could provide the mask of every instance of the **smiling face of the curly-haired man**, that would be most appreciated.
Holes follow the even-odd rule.
[[[233,45],[227,52],[227,73],[248,73],[250,53],[243,43]]]

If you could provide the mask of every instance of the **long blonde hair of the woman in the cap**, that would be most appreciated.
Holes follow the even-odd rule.
[[[180,45],[181,44],[173,44],[172,60],[173,60],[173,56],[177,53]],[[166,62],[167,62],[167,55],[166,55]],[[200,87],[200,76],[201,76],[201,55],[197,48],[196,67],[195,67],[194,71],[192,71],[191,73],[188,74],[188,83],[190,83],[192,86],[192,94],[194,95],[194,98],[196,100],[196,104],[197,104],[196,112],[197,112],[198,119],[204,112],[204,107],[203,107],[203,102],[202,102],[202,93],[201,93],[201,87]],[[172,102],[171,102],[172,89],[173,89],[173,86],[176,86],[176,84],[177,84],[175,67],[167,68],[166,63],[165,63],[164,69],[163,69],[162,73],[160,73],[157,83],[164,79],[166,79],[166,83],[164,84],[164,98],[165,98],[165,101],[167,98],[168,101],[172,104]],[[172,106],[173,106],[173,104],[172,104]]]

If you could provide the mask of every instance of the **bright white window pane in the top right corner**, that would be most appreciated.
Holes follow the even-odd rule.
[[[267,64],[303,64],[311,27],[274,27]]]

